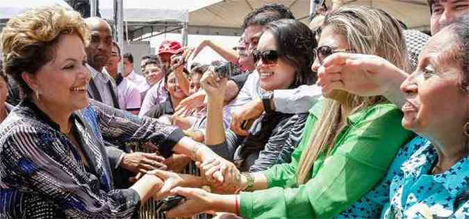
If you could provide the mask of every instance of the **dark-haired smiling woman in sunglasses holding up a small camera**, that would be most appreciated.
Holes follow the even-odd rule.
[[[287,19],[270,23],[253,54],[255,77],[258,77],[258,84],[253,86],[258,94],[315,82],[315,74],[311,72],[313,47],[313,33],[305,24]],[[307,115],[266,112],[251,128],[246,128],[249,129],[246,137],[225,131],[222,125],[224,80],[215,73],[208,73],[201,80],[208,96],[206,143],[222,157],[234,160],[242,171],[265,170],[290,161]]]

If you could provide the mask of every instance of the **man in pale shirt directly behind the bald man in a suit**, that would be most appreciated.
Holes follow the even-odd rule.
[[[124,78],[117,72],[117,65],[121,60],[120,48],[113,42],[113,51],[110,53],[110,59],[106,63],[105,71],[114,78],[117,84],[117,96],[119,97],[119,107],[122,110],[129,111],[138,115],[140,111],[140,91],[128,78]]]

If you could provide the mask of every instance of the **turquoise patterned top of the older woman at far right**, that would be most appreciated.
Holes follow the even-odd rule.
[[[338,218],[469,218],[469,159],[445,173],[429,175],[438,155],[431,142],[415,137],[398,153],[386,177]],[[457,200],[457,201],[456,201]]]

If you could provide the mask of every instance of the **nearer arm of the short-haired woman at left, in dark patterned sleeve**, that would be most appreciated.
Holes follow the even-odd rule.
[[[101,164],[90,166],[94,173],[85,169],[82,158],[76,156],[78,152],[70,147],[65,135],[26,125],[17,128],[1,140],[0,178],[3,186],[7,186],[3,188],[10,188],[17,195],[25,194],[25,200],[31,200],[27,194],[38,201],[47,200],[40,205],[42,209],[28,209],[31,216],[33,211],[48,212],[47,206],[52,205],[52,209],[64,213],[62,217],[129,218],[162,184],[158,177],[148,176],[131,189],[111,190],[104,148],[95,145],[87,133],[82,132],[88,135],[84,147],[92,151],[89,162]]]

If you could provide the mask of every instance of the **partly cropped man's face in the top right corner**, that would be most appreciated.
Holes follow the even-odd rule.
[[[469,0],[434,0],[431,3],[430,28],[435,35],[447,24],[469,14]]]

